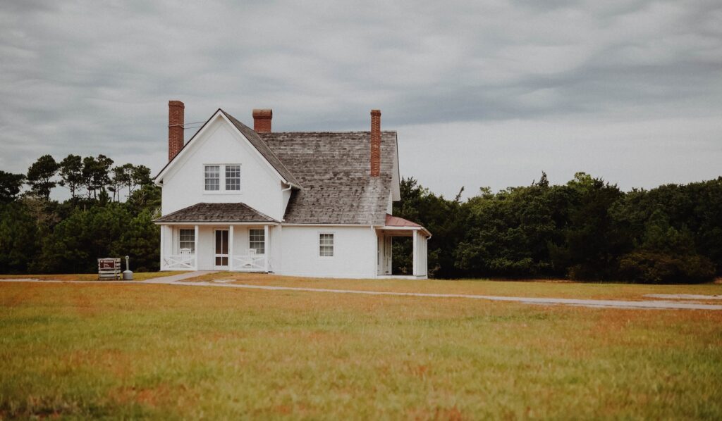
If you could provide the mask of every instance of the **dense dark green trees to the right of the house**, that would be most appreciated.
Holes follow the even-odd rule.
[[[542,174],[529,186],[460,198],[405,178],[393,207],[431,231],[435,278],[698,283],[722,275],[722,177],[623,192],[583,172],[565,185]],[[394,244],[395,272],[410,271],[410,247]]]

